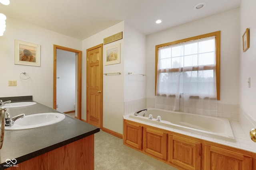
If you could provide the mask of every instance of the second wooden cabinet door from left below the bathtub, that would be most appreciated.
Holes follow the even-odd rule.
[[[167,133],[144,127],[143,150],[146,153],[167,160]]]

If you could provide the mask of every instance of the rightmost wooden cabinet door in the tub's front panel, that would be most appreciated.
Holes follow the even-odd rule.
[[[231,150],[206,145],[205,170],[252,170],[252,157]]]

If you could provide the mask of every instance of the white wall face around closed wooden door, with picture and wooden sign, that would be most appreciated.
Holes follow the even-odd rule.
[[[83,58],[86,49],[103,43],[103,39],[124,32],[124,21],[105,29],[82,41]],[[120,63],[105,66],[105,48],[120,43]],[[103,75],[103,127],[122,133],[124,114],[124,38],[103,46],[103,73],[122,72],[122,74]],[[82,61],[82,84],[86,84],[86,60]],[[86,120],[86,86],[82,87],[82,119]]]

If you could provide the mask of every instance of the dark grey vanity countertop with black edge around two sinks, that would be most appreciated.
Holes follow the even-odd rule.
[[[20,100],[20,102],[24,101]],[[32,102],[32,100],[26,100],[26,102]],[[26,107],[8,108],[7,111],[11,117],[22,113],[25,115],[61,113],[39,103]],[[4,143],[0,150],[0,169],[8,168],[4,167],[6,165],[6,159],[16,159],[16,164],[18,164],[99,131],[99,128],[70,117],[69,115],[66,115],[63,121],[53,125],[34,129],[5,131]]]

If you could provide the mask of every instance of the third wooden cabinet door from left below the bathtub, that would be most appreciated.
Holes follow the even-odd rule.
[[[169,162],[186,170],[200,170],[201,143],[173,135],[168,135],[168,141]]]

